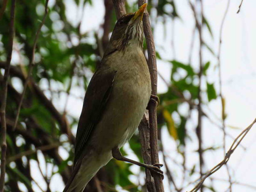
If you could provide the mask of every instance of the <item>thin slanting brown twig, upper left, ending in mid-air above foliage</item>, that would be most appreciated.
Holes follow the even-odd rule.
[[[47,17],[47,13],[48,13],[48,1],[49,1],[49,0],[46,0],[46,2],[45,2],[45,14],[44,14],[43,20],[42,20],[42,22],[40,23],[40,26],[38,27],[37,32],[36,32],[36,34],[35,34],[34,44],[33,44],[33,48],[32,48],[31,62],[30,62],[29,65],[28,65],[27,78],[26,78],[25,83],[24,83],[23,92],[22,92],[22,94],[21,94],[20,103],[19,103],[19,106],[18,106],[18,109],[17,109],[17,114],[16,114],[14,126],[13,126],[13,131],[15,130],[15,128],[16,128],[16,126],[17,126],[17,123],[18,123],[18,120],[19,120],[20,108],[21,108],[21,105],[22,105],[22,102],[23,102],[23,99],[24,99],[24,96],[25,96],[25,93],[26,93],[27,84],[28,84],[28,82],[29,82],[29,79],[30,79],[30,76],[31,76],[31,73],[32,73],[32,69],[33,69],[33,67],[34,67],[34,65],[35,65],[35,61],[34,61],[35,47],[36,47],[36,43],[37,43],[37,40],[38,40],[40,31],[41,31],[41,28],[42,28],[42,26],[44,25],[45,19],[46,19],[46,17]]]

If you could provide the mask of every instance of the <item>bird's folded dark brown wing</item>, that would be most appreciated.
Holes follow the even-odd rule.
[[[111,93],[115,74],[116,71],[110,67],[101,65],[89,83],[76,132],[74,166],[101,118]]]

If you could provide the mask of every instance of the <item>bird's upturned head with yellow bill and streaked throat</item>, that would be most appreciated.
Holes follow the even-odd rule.
[[[147,7],[143,4],[135,13],[128,13],[116,22],[108,49],[125,50],[128,46],[143,46],[142,17]],[[110,51],[110,50],[109,50]]]

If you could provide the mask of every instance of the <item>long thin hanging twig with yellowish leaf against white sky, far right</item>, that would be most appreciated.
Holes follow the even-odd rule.
[[[221,78],[221,60],[220,60],[220,57],[221,57],[221,45],[222,45],[222,30],[223,30],[223,25],[224,25],[227,13],[229,11],[229,4],[230,4],[230,0],[228,0],[227,7],[225,9],[225,13],[224,13],[223,18],[222,18],[222,23],[221,23],[221,27],[220,27],[219,49],[218,49],[218,55],[217,55],[217,60],[218,60],[217,65],[218,65],[218,69],[219,69],[220,97],[221,97],[221,104],[222,104],[222,130],[223,130],[223,152],[224,152],[224,156],[226,155],[225,100],[224,100],[224,97],[222,95],[222,78]],[[239,9],[240,9],[240,7],[239,7]],[[229,191],[232,192],[232,180],[231,180],[229,167],[228,167],[227,164],[225,164],[225,167],[226,167],[228,175],[229,175]]]

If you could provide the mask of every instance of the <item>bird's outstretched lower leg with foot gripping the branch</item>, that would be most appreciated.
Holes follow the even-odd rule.
[[[144,168],[147,168],[149,169],[150,171],[153,171],[153,172],[156,172],[158,174],[160,174],[163,178],[163,172],[162,170],[160,169],[160,167],[162,167],[163,165],[162,164],[159,164],[159,163],[156,163],[154,165],[148,165],[148,164],[144,164],[144,163],[140,163],[138,161],[135,161],[135,160],[132,160],[132,159],[128,159],[124,156],[122,156],[119,148],[115,147],[112,149],[112,156],[113,158],[115,158],[116,160],[120,160],[120,161],[125,161],[125,162],[128,162],[128,163],[132,163],[132,164],[135,164],[137,166],[142,166]]]

